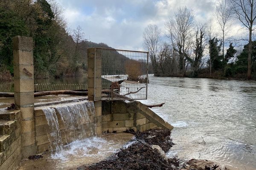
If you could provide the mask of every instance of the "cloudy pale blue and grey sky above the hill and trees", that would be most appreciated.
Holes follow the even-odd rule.
[[[81,26],[87,40],[117,49],[143,50],[143,30],[164,22],[178,7],[195,12],[198,23],[215,20],[217,0],[57,0],[69,27]]]

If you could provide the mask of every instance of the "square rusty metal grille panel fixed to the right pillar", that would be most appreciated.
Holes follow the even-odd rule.
[[[147,99],[148,52],[108,48],[96,51],[102,58],[102,100]]]

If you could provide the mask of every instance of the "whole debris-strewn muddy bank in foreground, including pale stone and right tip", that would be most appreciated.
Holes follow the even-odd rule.
[[[166,152],[174,145],[171,130],[148,130],[133,133],[133,144],[122,148],[105,161],[83,165],[76,170],[232,170],[207,160],[180,161],[167,158]],[[234,170],[234,169],[233,169]]]

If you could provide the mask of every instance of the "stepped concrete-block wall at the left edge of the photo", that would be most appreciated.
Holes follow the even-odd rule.
[[[21,161],[20,111],[0,113],[0,170],[14,170]]]

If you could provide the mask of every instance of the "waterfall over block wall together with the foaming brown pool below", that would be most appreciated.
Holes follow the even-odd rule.
[[[40,107],[35,108],[36,142],[43,158],[25,159],[17,170],[68,170],[102,161],[133,137],[128,133],[96,136],[93,102],[37,105]]]

